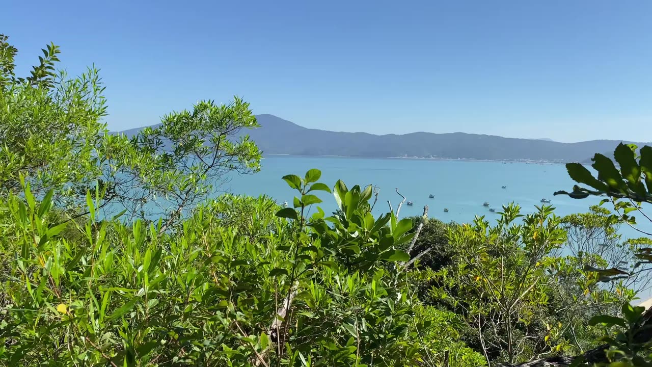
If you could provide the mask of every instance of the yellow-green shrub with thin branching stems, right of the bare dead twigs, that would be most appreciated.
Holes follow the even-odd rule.
[[[495,226],[477,217],[473,225],[449,232],[458,253],[439,272],[443,287],[432,293],[451,298],[454,310],[475,330],[488,363],[529,360],[549,351],[541,321],[549,293],[548,254],[565,239],[559,223],[550,206],[523,216],[510,205]]]

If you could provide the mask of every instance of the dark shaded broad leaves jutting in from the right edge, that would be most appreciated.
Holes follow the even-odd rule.
[[[606,197],[601,203],[612,203],[616,212],[616,214],[610,215],[610,220],[618,219],[649,236],[648,232],[634,227],[636,218],[630,215],[632,212],[639,212],[650,220],[644,213],[641,204],[642,202],[652,203],[652,148],[649,146],[640,148],[638,150],[640,155],[637,154],[637,150],[638,147],[633,144],[617,146],[614,157],[619,165],[619,170],[611,159],[596,154],[593,158],[593,168],[597,171],[597,178],[581,165],[569,163],[567,169],[571,178],[578,183],[589,185],[592,189],[575,185],[571,193],[557,191],[555,194],[569,195],[576,199],[583,199],[589,195]],[[650,238],[630,240],[622,246],[625,247],[623,252],[627,255],[621,263],[616,266],[602,264],[600,267],[587,265],[585,269],[596,274],[595,278],[600,281],[614,282],[619,279],[638,281],[640,274],[649,272],[649,268],[645,266],[652,263],[651,243]],[[645,284],[649,282],[649,274],[646,275]],[[619,325],[621,327],[615,332],[606,330],[606,334],[602,338],[609,346],[606,353],[608,362],[605,362],[604,365],[643,366],[650,363],[650,338],[647,332],[643,331],[651,327],[649,325],[650,315],[648,312],[644,317],[643,312],[644,308],[632,308],[629,302],[625,302],[621,315],[602,314],[591,319],[592,325],[602,324],[608,327]]]

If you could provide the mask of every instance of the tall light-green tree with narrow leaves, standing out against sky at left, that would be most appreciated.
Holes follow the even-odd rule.
[[[31,75],[14,73],[18,50],[0,35],[0,194],[23,195],[22,180],[68,218],[87,212],[86,192],[100,189],[103,217],[164,217],[160,230],[187,217],[229,172],[259,169],[260,152],[243,129],[257,127],[249,105],[203,101],[173,112],[132,138],[111,135],[98,70],[77,78],[55,72],[59,48],[43,50]]]

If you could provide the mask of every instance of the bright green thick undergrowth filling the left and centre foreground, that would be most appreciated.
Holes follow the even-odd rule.
[[[304,218],[302,205],[288,223],[270,199],[227,195],[174,233],[96,222],[90,193],[87,222],[62,225],[48,220],[51,195],[9,195],[0,365],[419,365],[434,346],[413,340],[394,247],[410,222],[376,221],[358,186],[339,192],[346,218]],[[63,236],[68,225],[80,236]],[[473,365],[456,345],[451,366]]]

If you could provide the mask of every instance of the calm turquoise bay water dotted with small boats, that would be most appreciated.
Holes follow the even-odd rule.
[[[598,204],[600,199],[571,199],[567,196],[553,196],[558,190],[570,191],[574,182],[569,178],[564,165],[541,163],[501,163],[493,161],[461,161],[436,159],[361,159],[349,157],[297,157],[271,155],[262,160],[260,172],[252,175],[233,176],[220,187],[221,191],[235,194],[258,196],[266,194],[277,202],[287,200],[290,205],[296,193],[282,180],[286,174],[303,177],[310,168],[321,170],[321,182],[333,187],[339,179],[350,188],[353,185],[376,185],[379,188],[378,202],[374,214],[389,211],[387,200],[391,200],[394,210],[401,197],[414,202],[413,206],[404,204],[400,216],[421,215],[423,206],[428,205],[428,215],[442,221],[466,223],[475,215],[485,215],[492,219],[498,215],[489,212],[494,208],[501,211],[505,204],[515,202],[522,213],[536,211],[541,199],[550,199],[555,213],[559,216],[587,212],[589,206]],[[501,186],[507,186],[502,189]],[[435,195],[429,199],[428,195]],[[323,202],[318,204],[327,213],[336,210],[333,195],[317,191]],[[482,206],[489,202],[489,207]],[[444,212],[449,208],[449,212]],[[611,209],[608,204],[605,208]],[[314,212],[314,208],[312,212]],[[641,223],[642,229],[649,229]],[[622,226],[623,235],[640,236],[629,227]]]

